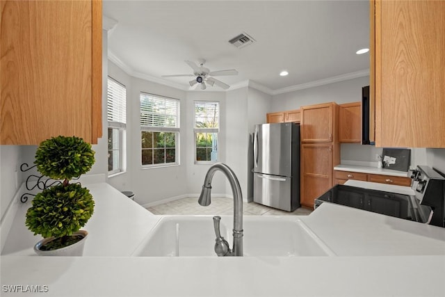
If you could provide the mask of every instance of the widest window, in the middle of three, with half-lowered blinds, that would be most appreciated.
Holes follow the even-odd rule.
[[[143,167],[179,164],[179,100],[140,93]]]

